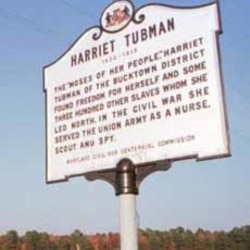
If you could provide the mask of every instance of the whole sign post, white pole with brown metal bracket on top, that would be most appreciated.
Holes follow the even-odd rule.
[[[104,180],[111,184],[119,199],[120,245],[121,250],[138,249],[138,221],[136,196],[139,185],[150,174],[166,171],[171,161],[158,161],[143,166],[135,166],[130,159],[121,160],[115,170],[87,173],[89,181]]]

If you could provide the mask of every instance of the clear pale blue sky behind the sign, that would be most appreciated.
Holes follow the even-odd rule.
[[[194,6],[205,0],[134,0]],[[119,230],[118,198],[84,177],[45,182],[43,67],[87,28],[111,1],[0,2],[0,233],[10,229],[70,234]],[[249,1],[221,0],[222,70],[232,156],[175,162],[143,181],[137,197],[142,229],[231,230],[250,224]]]

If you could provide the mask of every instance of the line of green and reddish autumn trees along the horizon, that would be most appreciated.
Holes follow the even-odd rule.
[[[10,230],[0,236],[0,250],[120,250],[118,233],[55,236],[36,230],[19,236]],[[250,226],[231,231],[196,232],[177,227],[168,231],[139,230],[139,250],[250,250]]]

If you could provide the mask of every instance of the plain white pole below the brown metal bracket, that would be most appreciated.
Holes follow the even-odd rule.
[[[138,250],[136,195],[119,196],[121,250]]]

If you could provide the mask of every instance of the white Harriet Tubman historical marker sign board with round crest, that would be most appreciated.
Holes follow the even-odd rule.
[[[163,159],[228,156],[217,3],[115,1],[44,68],[47,181]]]

